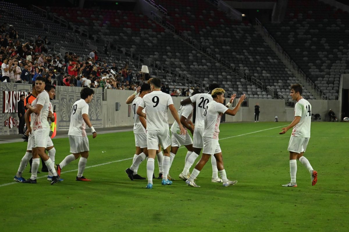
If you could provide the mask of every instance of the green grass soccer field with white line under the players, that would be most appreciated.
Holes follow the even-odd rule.
[[[173,161],[170,175],[176,180],[171,186],[156,179],[148,190],[146,180],[130,181],[124,170],[134,154],[132,131],[89,137],[90,168],[84,175],[91,182],[75,181],[74,161],[62,170],[61,183],[39,178],[37,184],[9,184],[27,143],[0,144],[0,230],[348,231],[349,123],[312,123],[305,156],[318,171],[318,183],[311,185],[309,172],[297,161],[297,188],[281,187],[290,179],[291,131],[278,134],[286,124],[221,124],[225,170],[238,180],[229,187],[211,183],[210,163],[196,181],[200,188],[186,186],[178,178],[185,148]],[[53,143],[59,163],[69,154],[69,141]],[[146,162],[138,173],[146,176]],[[23,177],[30,177],[28,167]]]

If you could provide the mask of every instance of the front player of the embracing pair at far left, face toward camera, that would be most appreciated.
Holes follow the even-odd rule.
[[[26,134],[30,134],[32,132],[32,155],[33,162],[31,168],[31,177],[22,183],[36,183],[37,171],[39,168],[39,163],[41,157],[49,172],[53,175],[51,184],[57,183],[60,179],[59,175],[57,175],[56,170],[54,169],[54,163],[50,159],[50,157],[45,153],[45,149],[47,147],[47,140],[50,134],[50,125],[47,121],[47,117],[49,114],[49,106],[50,106],[50,97],[47,91],[45,91],[45,79],[43,77],[38,77],[35,81],[35,89],[39,94],[36,98],[35,107],[27,104],[27,115],[24,115],[25,121],[27,122],[28,129]],[[33,114],[32,117],[32,127],[31,123],[29,123],[29,115]],[[53,144],[52,144],[53,145]],[[34,148],[35,147],[35,148]]]

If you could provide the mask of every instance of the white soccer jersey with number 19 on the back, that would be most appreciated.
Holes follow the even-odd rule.
[[[88,108],[89,106],[84,99],[80,99],[73,104],[72,112],[70,113],[68,135],[86,136],[86,123],[83,120],[82,115],[88,115]]]

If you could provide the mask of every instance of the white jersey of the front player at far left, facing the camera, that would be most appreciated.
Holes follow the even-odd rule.
[[[40,128],[50,127],[49,122],[47,121],[47,115],[49,114],[50,98],[49,94],[45,90],[37,96],[36,105],[42,105],[43,108],[39,114],[33,115],[32,129],[37,130]]]

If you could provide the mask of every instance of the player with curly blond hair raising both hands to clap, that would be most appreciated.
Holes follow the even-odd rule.
[[[205,117],[204,119],[205,127],[202,134],[203,136],[202,157],[200,161],[196,164],[190,177],[185,182],[189,186],[200,187],[196,185],[196,183],[194,182],[194,179],[199,175],[201,169],[203,168],[203,166],[205,166],[205,164],[207,163],[211,155],[214,155],[214,157],[212,157],[211,159],[215,158],[217,161],[217,168],[223,180],[223,186],[234,185],[237,183],[237,181],[228,180],[227,174],[225,173],[224,166],[223,166],[222,151],[218,142],[218,134],[220,131],[219,125],[221,122],[222,115],[229,114],[234,116],[240,109],[241,103],[245,99],[245,94],[240,97],[234,109],[230,110],[223,105],[223,102],[225,99],[224,92],[225,91],[222,88],[214,89],[211,94],[213,101],[211,101],[205,106],[205,111],[203,113]],[[234,99],[235,96],[236,94],[233,94],[232,99]]]

